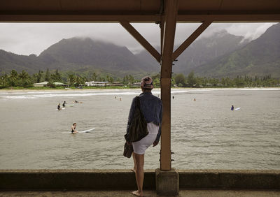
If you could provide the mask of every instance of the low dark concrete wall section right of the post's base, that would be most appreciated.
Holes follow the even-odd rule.
[[[280,170],[177,170],[181,189],[280,189]]]

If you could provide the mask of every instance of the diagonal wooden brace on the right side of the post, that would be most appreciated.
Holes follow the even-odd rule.
[[[202,32],[207,29],[207,27],[209,27],[209,25],[212,23],[212,21],[205,21],[203,22],[200,27],[198,27],[192,35],[190,35],[190,37],[188,37],[186,39],[186,41],[184,41],[180,46],[179,48],[177,48],[175,50],[175,52],[172,54],[172,59],[176,59],[177,57],[179,57],[179,55],[184,51],[186,50],[186,48],[188,48],[188,46],[193,43],[193,41],[195,41],[195,39],[200,36],[200,34],[202,34]]]

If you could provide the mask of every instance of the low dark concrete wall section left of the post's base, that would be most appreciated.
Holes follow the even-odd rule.
[[[0,190],[137,189],[131,170],[0,170]],[[155,189],[154,170],[145,170],[144,189]]]

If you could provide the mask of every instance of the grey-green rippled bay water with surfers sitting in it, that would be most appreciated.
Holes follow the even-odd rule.
[[[0,169],[132,168],[123,136],[140,93],[0,92]],[[172,168],[279,170],[280,89],[172,89],[172,96]],[[67,133],[73,122],[78,131],[95,129]],[[145,169],[160,166],[159,152],[160,144],[146,150]]]

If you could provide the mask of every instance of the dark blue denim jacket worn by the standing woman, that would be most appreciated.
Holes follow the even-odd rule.
[[[151,92],[143,92],[139,95],[141,112],[144,115],[146,122],[153,122],[160,126],[158,136],[155,139],[156,142],[160,141],[161,125],[162,125],[162,101],[157,97],[153,96]],[[130,107],[130,115],[128,116],[127,133],[130,126],[130,122],[134,116],[135,111],[135,98],[132,100]]]

